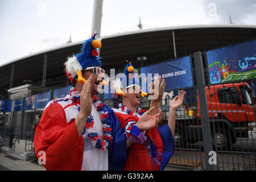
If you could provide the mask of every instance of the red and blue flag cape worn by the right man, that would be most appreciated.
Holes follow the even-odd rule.
[[[126,124],[130,121],[137,122],[139,117],[144,113],[142,110],[138,113],[132,113],[129,111],[125,112],[121,107],[119,107],[119,109],[112,109],[115,111],[122,129],[125,129]],[[167,124],[164,124],[155,127],[154,129],[147,130],[146,134],[152,139],[152,141],[154,141],[156,147],[160,153],[162,153],[162,155],[158,156],[160,165],[152,164],[151,156],[148,154],[143,144],[133,143],[133,145],[127,150],[127,161],[123,170],[163,171],[166,167],[174,152],[174,138],[172,137],[170,127]]]

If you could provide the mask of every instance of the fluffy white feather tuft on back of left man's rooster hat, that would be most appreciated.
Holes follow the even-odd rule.
[[[72,57],[68,57],[64,65],[65,71],[71,73],[72,78],[74,78],[77,75],[77,71],[82,70],[79,61],[77,61],[76,56],[74,55]]]

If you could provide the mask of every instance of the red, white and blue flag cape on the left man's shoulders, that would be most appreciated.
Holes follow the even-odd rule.
[[[34,147],[37,158],[45,152],[47,170],[81,170],[84,155],[84,139],[79,136],[75,123],[78,103],[67,95],[50,101],[38,126],[36,127]],[[126,163],[126,137],[112,109],[103,104],[109,111],[110,127],[112,127],[112,144],[108,149],[108,169],[122,170]]]

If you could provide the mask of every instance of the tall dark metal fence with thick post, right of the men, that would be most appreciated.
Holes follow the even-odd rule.
[[[209,84],[205,53],[191,55],[194,82],[176,111],[175,152],[168,166],[207,170],[256,170],[255,78]],[[204,62],[203,62],[204,60]],[[168,122],[171,98],[164,93],[161,109]],[[118,99],[104,101],[117,106]],[[150,100],[141,98],[142,109]]]

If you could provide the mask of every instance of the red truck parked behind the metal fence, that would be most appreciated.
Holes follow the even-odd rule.
[[[248,92],[249,84],[211,85],[205,90],[213,150],[230,150],[237,138],[246,138],[249,132],[255,132],[255,108]],[[198,95],[197,104],[194,110],[185,106],[187,114],[176,117],[176,147],[185,148],[187,143],[203,141]]]

